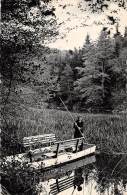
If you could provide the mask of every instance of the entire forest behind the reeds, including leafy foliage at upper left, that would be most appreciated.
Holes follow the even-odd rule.
[[[43,1],[2,1],[2,113],[27,107],[112,112],[127,109],[127,27],[124,35],[103,27],[80,49],[44,46],[58,34],[55,9]],[[24,12],[25,10],[25,12]],[[45,24],[45,25],[44,25]],[[6,118],[6,117],[5,117]]]

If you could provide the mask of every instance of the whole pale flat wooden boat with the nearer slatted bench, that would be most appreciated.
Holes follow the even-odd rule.
[[[15,156],[15,159],[21,162],[28,162],[31,168],[46,170],[93,155],[95,150],[96,146],[84,143],[84,138],[82,137],[55,142],[48,147],[18,154]],[[29,153],[31,157],[29,157]],[[7,157],[7,159],[14,159],[14,156]]]

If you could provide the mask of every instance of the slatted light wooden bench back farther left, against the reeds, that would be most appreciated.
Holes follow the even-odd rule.
[[[23,138],[23,146],[25,149],[35,149],[49,146],[56,142],[55,134],[44,134]]]

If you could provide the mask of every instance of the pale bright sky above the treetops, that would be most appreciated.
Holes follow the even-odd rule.
[[[87,34],[96,41],[103,27],[108,27],[112,36],[116,24],[111,24],[108,15],[119,22],[122,34],[127,26],[127,10],[118,7],[113,1],[102,13],[92,13],[84,0],[53,0],[52,5],[55,7],[59,36],[54,42],[48,43],[51,48],[81,48]]]

